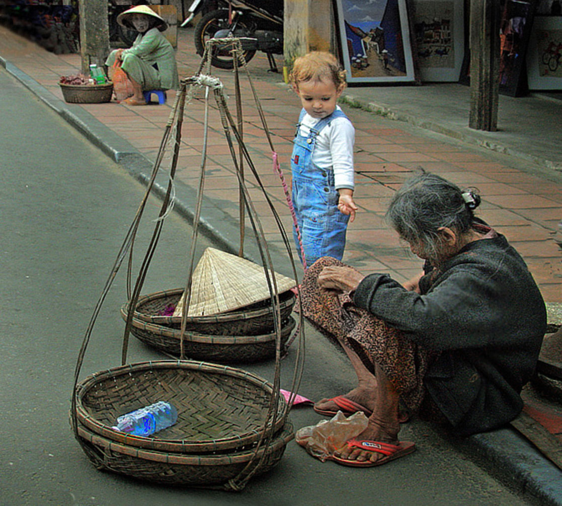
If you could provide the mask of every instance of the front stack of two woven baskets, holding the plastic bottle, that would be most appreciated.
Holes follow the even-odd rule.
[[[98,469],[161,484],[239,490],[251,475],[275,466],[293,438],[283,397],[268,418],[272,396],[270,383],[240,369],[189,360],[135,363],[80,382],[73,424]],[[173,426],[151,437],[112,430],[119,415],[156,399],[178,410]]]

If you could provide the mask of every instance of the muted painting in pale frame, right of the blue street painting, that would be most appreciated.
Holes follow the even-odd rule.
[[[464,55],[464,1],[414,0],[413,7],[420,78],[457,82]]]

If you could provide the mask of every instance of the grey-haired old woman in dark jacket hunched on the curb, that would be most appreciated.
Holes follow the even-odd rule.
[[[402,285],[330,257],[302,283],[303,311],[336,336],[359,384],[316,412],[362,410],[364,432],[334,456],[377,466],[415,449],[400,441],[401,399],[458,435],[491,430],[523,408],[546,329],[541,293],[506,238],[474,216],[480,198],[424,173],[407,180],[386,218],[423,272]]]

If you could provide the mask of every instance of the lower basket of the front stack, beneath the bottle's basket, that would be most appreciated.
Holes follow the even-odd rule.
[[[277,466],[293,439],[293,426],[285,423],[283,430],[267,447],[257,452],[256,475]],[[105,469],[143,481],[164,485],[204,486],[230,489],[228,481],[239,475],[253,457],[253,451],[233,451],[228,455],[170,454],[139,450],[120,444],[78,426],[78,441],[97,469]],[[265,452],[264,459],[261,460]]]

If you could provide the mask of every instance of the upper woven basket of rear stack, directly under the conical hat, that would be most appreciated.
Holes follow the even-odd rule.
[[[164,292],[149,293],[139,297],[134,317],[145,322],[157,323],[173,328],[180,328],[181,317],[162,316],[160,313],[167,306],[178,304],[183,288]],[[285,320],[293,310],[296,296],[292,291],[279,294],[281,320]],[[125,313],[127,305],[124,306]],[[123,311],[123,308],[121,308]],[[190,317],[186,320],[186,329],[215,336],[252,336],[271,332],[273,328],[273,309],[271,300],[256,302],[245,308],[228,313],[204,317]]]

